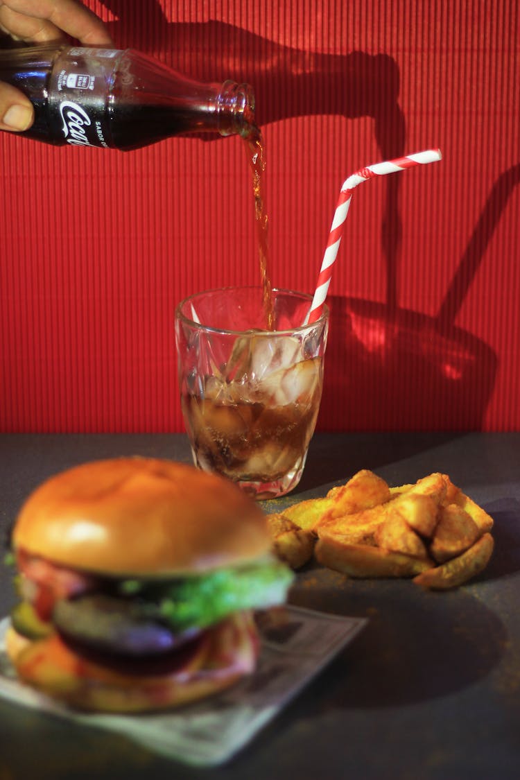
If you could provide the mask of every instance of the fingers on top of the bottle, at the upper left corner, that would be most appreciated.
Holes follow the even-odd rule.
[[[3,0],[0,27],[22,41],[55,41],[66,33],[84,44],[113,45],[101,19],[76,0]]]

